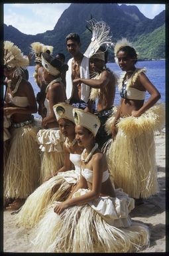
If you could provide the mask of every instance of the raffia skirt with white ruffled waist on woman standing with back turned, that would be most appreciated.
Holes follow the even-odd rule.
[[[60,170],[64,165],[64,136],[60,130],[44,129],[37,134],[38,144],[41,151],[40,184],[46,176],[50,176]]]

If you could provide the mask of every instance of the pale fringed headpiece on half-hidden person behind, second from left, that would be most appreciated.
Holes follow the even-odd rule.
[[[50,51],[50,54],[52,54],[53,48],[50,45],[44,45],[39,42],[34,42],[30,45],[32,47],[31,53],[35,55],[35,63],[42,63],[42,53],[46,53],[46,51]]]

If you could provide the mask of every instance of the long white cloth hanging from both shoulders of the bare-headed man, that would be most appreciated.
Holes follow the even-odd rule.
[[[70,59],[68,61],[69,69],[66,72],[66,96],[68,100],[72,96],[72,61],[74,58]],[[89,58],[85,57],[82,59],[82,63],[80,64],[80,78],[89,78]],[[84,100],[84,102],[87,102],[89,100],[89,92],[90,87],[86,84],[81,84],[81,100]]]

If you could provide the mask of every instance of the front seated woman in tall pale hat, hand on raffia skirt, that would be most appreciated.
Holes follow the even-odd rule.
[[[95,144],[99,119],[77,108],[74,119],[76,140],[85,148],[80,182],[66,201],[56,201],[46,209],[33,231],[33,249],[56,253],[139,251],[148,244],[148,228],[129,217],[134,199],[113,190],[105,156]]]

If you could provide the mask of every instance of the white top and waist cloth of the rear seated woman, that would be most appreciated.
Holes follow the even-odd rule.
[[[70,161],[74,164],[75,170],[70,170],[67,172],[58,172],[56,177],[62,176],[66,182],[69,184],[76,184],[80,180],[81,171],[81,155],[70,153]]]

